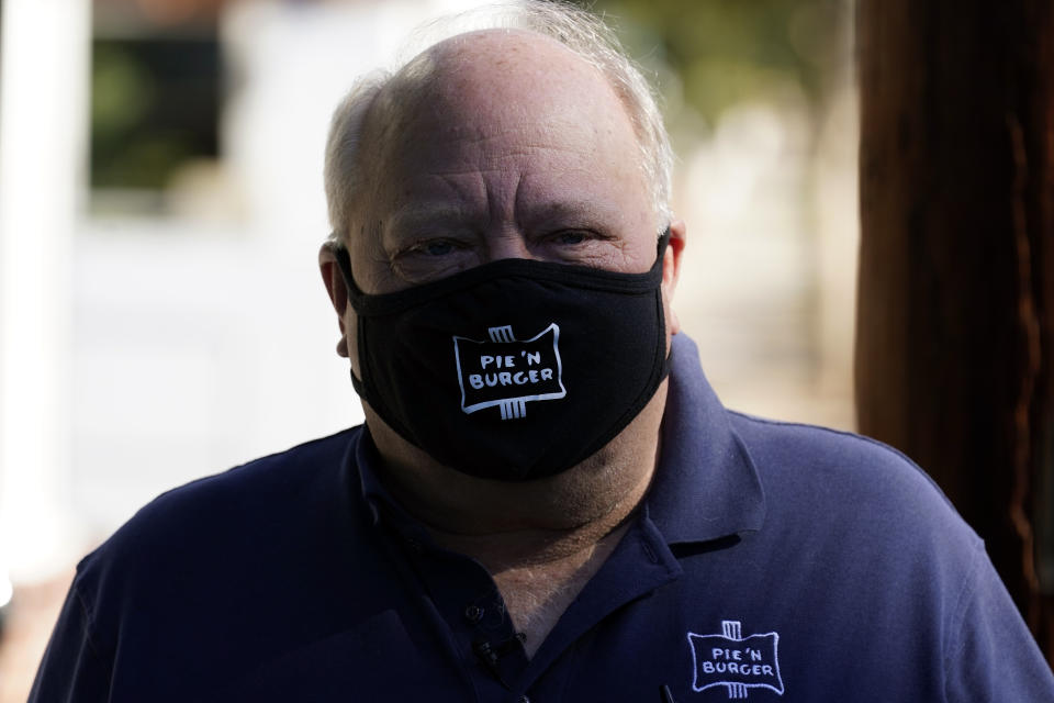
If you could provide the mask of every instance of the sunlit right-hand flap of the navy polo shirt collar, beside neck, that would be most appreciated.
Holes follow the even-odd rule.
[[[695,343],[673,337],[662,444],[647,502],[670,544],[761,529],[765,498],[753,461],[699,366]]]

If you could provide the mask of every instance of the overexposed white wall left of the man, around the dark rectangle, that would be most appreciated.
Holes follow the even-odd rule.
[[[169,193],[173,216],[93,217],[89,2],[4,0],[0,585],[164,490],[360,422],[316,265],[329,115],[419,22],[471,4],[226,5],[222,163]]]

